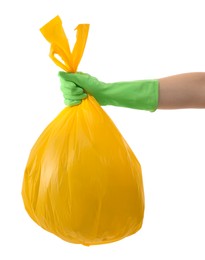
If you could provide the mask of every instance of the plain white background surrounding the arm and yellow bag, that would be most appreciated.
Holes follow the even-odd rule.
[[[106,107],[137,158],[146,198],[142,229],[85,247],[37,226],[21,185],[32,145],[63,109],[58,68],[39,28],[60,15],[90,23],[80,71],[100,80],[205,71],[204,1],[35,0],[0,3],[0,259],[205,259],[205,110],[155,113]]]

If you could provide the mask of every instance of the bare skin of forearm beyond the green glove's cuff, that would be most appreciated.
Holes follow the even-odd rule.
[[[158,109],[205,108],[205,72],[159,79]]]

